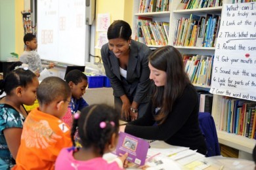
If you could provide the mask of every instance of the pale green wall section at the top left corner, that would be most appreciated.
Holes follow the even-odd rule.
[[[15,0],[0,1],[0,59],[5,60],[15,52]]]

